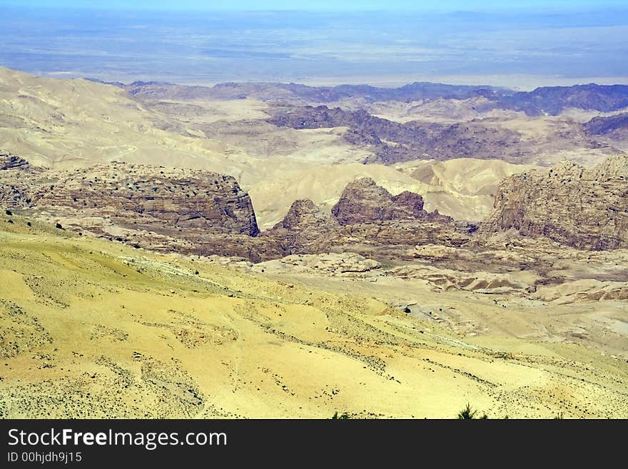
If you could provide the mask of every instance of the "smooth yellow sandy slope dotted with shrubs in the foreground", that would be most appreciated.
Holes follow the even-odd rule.
[[[372,299],[26,222],[0,216],[4,418],[628,416],[628,365],[581,347],[477,346]]]

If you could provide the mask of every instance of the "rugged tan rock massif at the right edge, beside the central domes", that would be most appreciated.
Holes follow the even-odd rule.
[[[588,169],[565,161],[507,178],[480,232],[511,228],[579,249],[628,247],[628,156]]]

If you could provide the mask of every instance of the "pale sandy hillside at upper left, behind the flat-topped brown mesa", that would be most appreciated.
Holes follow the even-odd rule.
[[[32,164],[119,160],[231,173],[246,163],[224,143],[161,130],[159,118],[116,86],[0,68],[2,148]]]

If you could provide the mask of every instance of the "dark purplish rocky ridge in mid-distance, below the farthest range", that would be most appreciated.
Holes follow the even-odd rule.
[[[348,111],[328,106],[280,106],[269,109],[268,123],[296,130],[346,127],[343,140],[365,148],[372,154],[364,163],[393,164],[417,159],[444,161],[454,158],[500,159],[512,163],[534,158],[541,138],[531,144],[523,131],[500,125],[499,121],[474,119],[464,123],[390,121],[373,116],[363,109]],[[607,148],[595,141],[578,125],[551,136],[552,143],[563,151]],[[534,141],[534,140],[532,140]]]

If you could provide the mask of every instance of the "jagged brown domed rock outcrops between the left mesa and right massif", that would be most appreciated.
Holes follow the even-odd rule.
[[[331,213],[321,213],[308,199],[295,201],[263,237],[275,240],[284,255],[362,246],[383,256],[405,256],[407,247],[417,244],[460,246],[469,238],[452,218],[425,211],[420,195],[391,196],[370,178],[349,183]]]

